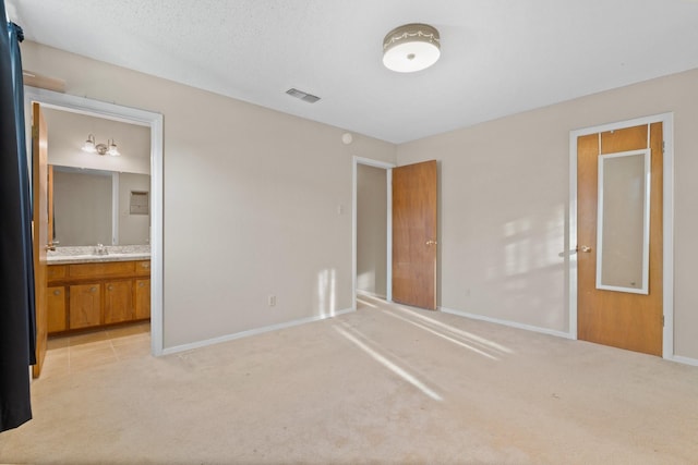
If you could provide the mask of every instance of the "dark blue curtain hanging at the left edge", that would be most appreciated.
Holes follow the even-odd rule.
[[[3,24],[5,17],[0,0]],[[36,362],[22,39],[12,23],[0,34],[0,431],[32,418],[29,365]]]

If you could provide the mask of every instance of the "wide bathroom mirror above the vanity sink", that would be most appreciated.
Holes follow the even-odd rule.
[[[149,244],[149,206],[130,207],[132,193],[149,192],[149,175],[52,166],[50,184],[59,246]]]

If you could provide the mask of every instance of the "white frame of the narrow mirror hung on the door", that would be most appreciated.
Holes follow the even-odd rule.
[[[603,212],[604,212],[604,161],[621,157],[642,156],[645,166],[645,192],[642,195],[642,264],[641,284],[639,287],[609,285],[602,282],[603,271]],[[597,200],[597,289],[604,291],[627,292],[631,294],[649,294],[649,258],[650,258],[650,189],[651,158],[649,148],[628,150],[599,156],[598,200]]]

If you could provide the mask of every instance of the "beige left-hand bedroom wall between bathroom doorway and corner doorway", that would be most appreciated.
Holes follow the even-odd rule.
[[[351,307],[351,157],[394,162],[394,145],[28,41],[22,54],[68,94],[164,114],[166,348]]]

